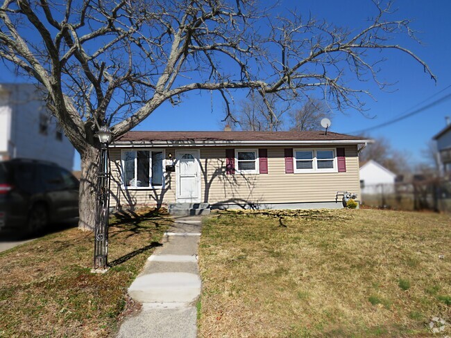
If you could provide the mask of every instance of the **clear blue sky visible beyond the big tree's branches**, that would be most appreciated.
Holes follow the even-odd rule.
[[[295,6],[303,15],[311,13],[318,19],[349,28],[362,26],[364,20],[374,13],[369,0],[287,0],[282,1],[277,10],[283,15],[285,7]],[[409,39],[400,39],[400,44],[427,62],[437,82],[431,80],[423,72],[423,67],[407,55],[391,51],[384,53],[388,60],[382,66],[380,79],[395,84],[387,91],[380,91],[371,82],[355,84],[370,89],[375,100],[364,98],[368,109],[366,116],[351,110],[334,112],[333,132],[350,133],[372,128],[451,94],[451,1],[397,0],[394,8],[398,8],[395,17],[414,20],[411,27],[421,32],[418,37],[423,42],[417,44]],[[14,78],[12,73],[2,71],[0,81],[24,82],[24,79]],[[237,99],[241,97],[242,94],[236,96]],[[426,143],[445,127],[445,116],[451,116],[451,100],[445,100],[398,123],[371,130],[368,134],[385,136],[395,150],[407,154],[412,163],[418,163],[423,159],[422,150]],[[191,93],[178,107],[170,104],[160,106],[135,130],[221,130],[220,121],[223,117],[223,101],[218,94]],[[80,168],[78,157],[74,168]]]

